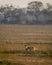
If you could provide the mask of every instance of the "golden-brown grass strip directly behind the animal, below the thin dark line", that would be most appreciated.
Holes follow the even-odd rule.
[[[26,43],[5,43],[5,42],[0,42],[0,50],[25,50],[25,45],[27,46],[32,46],[37,48],[37,50],[40,51],[47,51],[47,50],[52,50],[52,44],[51,43],[46,43],[46,44],[26,44]]]

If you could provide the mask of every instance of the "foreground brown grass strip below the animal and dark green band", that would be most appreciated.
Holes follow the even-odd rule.
[[[0,54],[0,56],[2,61],[10,61],[13,65],[52,65],[52,58],[49,57],[26,57],[17,54]]]

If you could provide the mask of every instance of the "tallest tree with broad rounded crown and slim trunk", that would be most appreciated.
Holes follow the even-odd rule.
[[[36,22],[38,22],[38,16],[42,11],[43,3],[39,1],[32,1],[28,3],[29,12],[36,17]]]

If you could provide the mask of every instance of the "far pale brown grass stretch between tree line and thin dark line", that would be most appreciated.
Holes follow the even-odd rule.
[[[0,41],[52,42],[51,25],[0,25]]]

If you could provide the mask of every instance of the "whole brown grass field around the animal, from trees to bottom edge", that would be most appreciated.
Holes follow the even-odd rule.
[[[41,52],[51,51],[51,56],[10,52],[24,51],[25,45]],[[0,65],[52,65],[52,26],[0,25]]]

